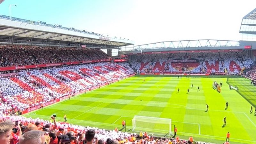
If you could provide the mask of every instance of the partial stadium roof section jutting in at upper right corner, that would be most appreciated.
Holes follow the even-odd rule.
[[[240,33],[256,34],[256,8],[243,17]]]

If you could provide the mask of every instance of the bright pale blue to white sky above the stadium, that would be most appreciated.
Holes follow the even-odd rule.
[[[135,45],[174,40],[240,40],[256,0],[5,0],[0,14],[122,37]]]

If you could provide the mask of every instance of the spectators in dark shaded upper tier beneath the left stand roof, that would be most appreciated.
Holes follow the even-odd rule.
[[[0,67],[111,59],[100,49],[0,46]]]

